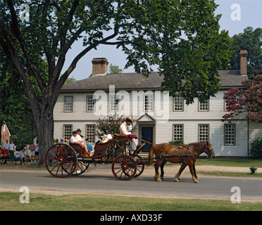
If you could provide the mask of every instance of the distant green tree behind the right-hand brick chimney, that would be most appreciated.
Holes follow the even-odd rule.
[[[247,27],[243,33],[235,34],[232,37],[232,54],[230,61],[231,70],[239,70],[239,52],[247,49],[249,53],[247,58],[247,74],[262,74],[262,28],[253,29]]]

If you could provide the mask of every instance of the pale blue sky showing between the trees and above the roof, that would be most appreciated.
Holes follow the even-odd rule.
[[[244,28],[248,26],[254,29],[262,27],[262,0],[215,0],[215,2],[219,5],[216,13],[222,14],[220,30],[228,30],[230,37],[242,33]],[[64,70],[83,49],[81,41],[73,44],[66,56]],[[88,78],[92,74],[93,58],[107,58],[109,64],[112,63],[124,69],[127,63],[126,57],[121,49],[116,49],[116,46],[101,45],[97,50],[93,49],[83,56],[69,77],[74,77],[77,80]],[[153,69],[158,71],[157,66],[154,66]],[[64,71],[62,70],[62,72]],[[135,72],[135,70],[127,68],[123,72]]]

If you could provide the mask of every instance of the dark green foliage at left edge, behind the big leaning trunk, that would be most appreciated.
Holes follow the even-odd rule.
[[[0,127],[6,123],[11,134],[23,134],[25,136],[23,140],[30,143],[36,135],[34,132],[35,122],[32,118],[32,108],[25,96],[23,80],[8,58],[3,54],[1,56]],[[26,135],[27,132],[31,135]]]

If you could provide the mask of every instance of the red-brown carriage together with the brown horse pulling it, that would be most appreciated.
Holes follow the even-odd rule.
[[[182,163],[179,172],[175,176],[175,181],[179,181],[181,172],[189,166],[192,179],[199,183],[194,162],[201,153],[206,153],[209,158],[214,158],[211,143],[191,143],[187,146],[172,146],[168,143],[153,145],[150,150],[149,158],[142,159],[138,154],[147,141],[142,141],[142,145],[135,151],[130,150],[130,141],[132,139],[124,134],[115,134],[116,138],[106,143],[98,143],[94,146],[94,155],[85,157],[82,153],[82,146],[73,143],[57,143],[51,146],[46,152],[45,164],[50,174],[56,177],[67,177],[70,175],[79,175],[84,173],[90,163],[112,164],[113,175],[120,180],[129,180],[142,174],[146,164],[151,165],[156,160],[155,169],[156,181],[163,179],[163,166],[166,162]],[[119,143],[123,143],[123,147]],[[116,158],[113,153],[119,152]],[[154,157],[155,155],[155,157]],[[108,160],[106,160],[108,158]],[[112,160],[111,160],[112,158]],[[158,168],[161,167],[161,179],[158,175]]]

